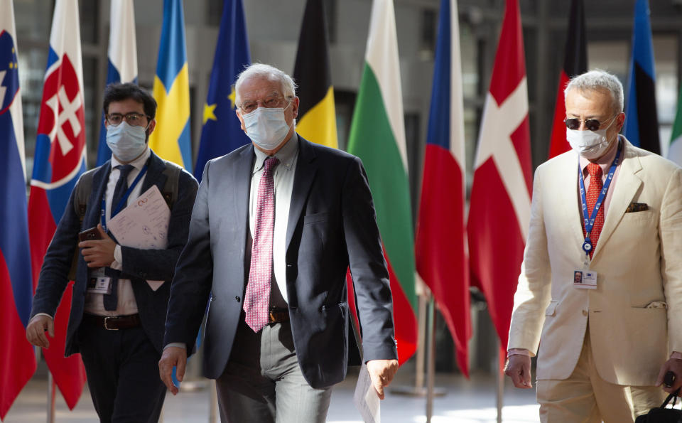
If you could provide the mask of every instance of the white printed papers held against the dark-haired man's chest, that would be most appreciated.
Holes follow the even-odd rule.
[[[168,223],[171,209],[156,185],[136,198],[114,216],[107,229],[112,231],[119,244],[141,250],[163,250],[168,245]],[[164,281],[147,281],[156,291]]]

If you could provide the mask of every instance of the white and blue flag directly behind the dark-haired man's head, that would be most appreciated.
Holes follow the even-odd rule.
[[[137,43],[133,0],[112,1],[109,17],[107,85],[114,82],[137,83]],[[112,150],[107,146],[107,129],[104,127],[104,111],[102,111],[96,166],[101,166],[111,158]]]

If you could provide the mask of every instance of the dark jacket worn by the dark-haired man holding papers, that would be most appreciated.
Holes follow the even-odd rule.
[[[158,186],[159,191],[163,192],[166,183],[166,175],[163,175],[165,168],[165,161],[151,151],[149,167],[142,183],[141,192],[144,193],[152,185]],[[100,205],[102,197],[106,193],[110,171],[110,161],[90,171],[94,172],[92,193],[88,199],[88,207],[82,225],[79,224],[78,215],[73,207],[75,190],[71,193],[64,215],[45,254],[43,267],[40,269],[38,288],[36,295],[33,296],[31,317],[38,313],[55,315],[62,294],[69,283],[67,274],[71,267],[74,250],[77,248],[78,232],[97,226],[99,223]],[[161,352],[163,341],[163,323],[166,318],[168,296],[171,293],[175,262],[177,262],[178,255],[180,255],[180,251],[187,241],[192,205],[196,193],[197,181],[195,178],[190,173],[181,171],[178,178],[178,199],[173,205],[173,210],[171,210],[171,221],[168,225],[168,248],[166,250],[139,250],[121,247],[123,253],[121,277],[131,279],[142,327],[159,352]],[[166,283],[156,291],[152,291],[145,282],[146,279],[164,280]],[[87,265],[83,256],[79,255],[71,300],[71,314],[67,328],[65,355],[79,352],[77,336],[75,335],[83,318],[86,287]]]

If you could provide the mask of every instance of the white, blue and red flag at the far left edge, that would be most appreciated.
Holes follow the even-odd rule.
[[[12,0],[0,0],[0,419],[36,372],[26,341],[33,283]]]

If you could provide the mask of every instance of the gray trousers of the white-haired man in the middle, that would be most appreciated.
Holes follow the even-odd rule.
[[[288,322],[254,333],[243,316],[216,387],[220,419],[230,423],[324,423],[332,397],[303,378]]]

